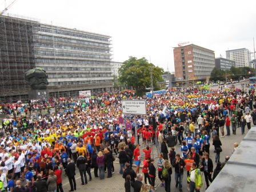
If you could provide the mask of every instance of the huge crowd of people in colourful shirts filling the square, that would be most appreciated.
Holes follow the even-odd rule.
[[[123,114],[124,99],[146,100],[147,114]],[[182,191],[184,168],[187,190],[199,191],[201,173],[208,187],[221,170],[219,137],[244,134],[245,127],[256,125],[253,101],[254,90],[193,87],[170,89],[153,98],[137,97],[127,90],[90,98],[0,103],[0,114],[5,114],[0,132],[0,189],[63,192],[62,178],[67,176],[69,191],[74,191],[75,169],[81,185],[87,185],[93,179],[91,169],[95,179],[105,179],[105,174],[111,178],[118,158],[117,174],[125,178],[125,191],[155,191],[157,175],[166,191],[170,191],[171,177]],[[50,107],[56,106],[50,113]],[[131,138],[126,122],[132,125]],[[209,158],[210,138],[216,152],[215,170]],[[152,147],[159,150],[156,163]]]

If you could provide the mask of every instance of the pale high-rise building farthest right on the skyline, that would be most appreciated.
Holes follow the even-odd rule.
[[[226,58],[235,61],[235,67],[250,67],[251,54],[248,49],[227,50]]]

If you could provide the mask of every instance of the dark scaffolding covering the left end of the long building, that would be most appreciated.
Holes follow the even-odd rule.
[[[25,72],[35,67],[33,26],[38,22],[0,16],[0,100],[27,98]]]

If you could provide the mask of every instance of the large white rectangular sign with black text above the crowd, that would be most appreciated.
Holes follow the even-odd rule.
[[[146,101],[123,100],[122,109],[125,114],[146,115]]]

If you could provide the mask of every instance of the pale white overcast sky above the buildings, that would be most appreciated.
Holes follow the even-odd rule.
[[[0,10],[4,8],[0,0]],[[226,57],[228,49],[253,52],[255,10],[254,0],[18,0],[5,15],[110,35],[113,61],[145,57],[165,71],[169,63],[169,71],[174,71],[173,47],[181,42],[214,50],[215,57]]]

